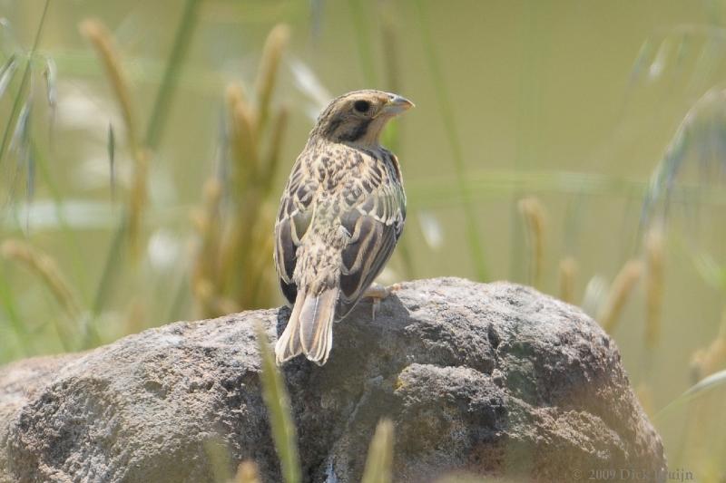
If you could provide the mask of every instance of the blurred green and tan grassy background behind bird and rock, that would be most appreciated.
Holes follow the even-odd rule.
[[[0,362],[280,304],[289,168],[325,101],[376,87],[417,103],[385,133],[409,216],[384,281],[579,304],[671,468],[726,478],[726,2],[0,0],[0,17]]]

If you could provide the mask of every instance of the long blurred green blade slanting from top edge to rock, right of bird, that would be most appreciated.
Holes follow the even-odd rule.
[[[421,30],[422,43],[424,45],[424,53],[426,54],[428,70],[431,73],[431,80],[437,92],[437,101],[441,118],[444,121],[444,130],[446,132],[446,140],[451,149],[452,159],[454,161],[454,170],[458,181],[458,189],[461,191],[463,199],[462,208],[466,217],[466,242],[469,246],[469,252],[474,261],[476,269],[476,277],[479,280],[487,280],[489,278],[488,269],[486,267],[486,257],[484,251],[484,241],[479,232],[479,223],[476,219],[474,205],[471,200],[471,194],[466,188],[466,168],[464,166],[464,150],[461,147],[461,141],[458,138],[458,130],[456,129],[456,117],[451,106],[453,105],[446,89],[444,74],[441,70],[441,64],[438,62],[434,41],[428,26],[428,19],[424,2],[417,0],[418,23]]]

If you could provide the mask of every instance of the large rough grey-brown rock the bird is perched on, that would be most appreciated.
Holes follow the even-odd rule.
[[[288,316],[168,324],[0,369],[0,481],[203,482],[244,459],[281,481],[254,324],[273,337]],[[359,304],[334,333],[325,366],[284,367],[304,481],[358,482],[381,417],[395,423],[397,481],[665,480],[617,348],[573,306],[519,285],[421,280],[375,319]],[[230,468],[215,467],[225,452]]]

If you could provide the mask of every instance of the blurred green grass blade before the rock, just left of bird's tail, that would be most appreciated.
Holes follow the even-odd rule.
[[[257,346],[262,360],[262,397],[270,414],[272,439],[280,458],[282,477],[285,483],[299,483],[300,462],[298,455],[298,438],[295,425],[290,416],[288,391],[275,365],[275,358],[270,351],[270,341],[262,325],[257,323]]]

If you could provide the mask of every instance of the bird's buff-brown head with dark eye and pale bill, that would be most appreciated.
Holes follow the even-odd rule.
[[[383,91],[354,91],[330,101],[310,138],[319,137],[354,146],[376,146],[386,122],[414,103]]]

